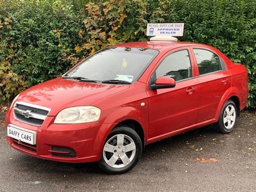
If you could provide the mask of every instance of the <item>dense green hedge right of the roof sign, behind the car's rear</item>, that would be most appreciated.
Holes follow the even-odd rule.
[[[158,8],[164,22],[185,23],[180,40],[212,45],[232,61],[246,66],[250,88],[248,108],[255,109],[256,1],[159,0]]]

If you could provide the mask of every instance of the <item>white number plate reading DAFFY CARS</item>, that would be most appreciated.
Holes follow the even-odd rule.
[[[36,132],[15,125],[7,126],[7,136],[31,145],[36,144]]]

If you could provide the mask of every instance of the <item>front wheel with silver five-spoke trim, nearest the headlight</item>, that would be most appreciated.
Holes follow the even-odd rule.
[[[141,153],[142,143],[137,132],[126,126],[116,127],[104,144],[99,166],[110,174],[126,173],[140,161]]]

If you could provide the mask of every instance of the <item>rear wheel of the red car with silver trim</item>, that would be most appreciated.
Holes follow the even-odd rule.
[[[214,124],[214,129],[217,132],[227,134],[232,132],[237,118],[237,108],[233,100],[228,100],[223,109],[221,110],[220,118],[216,124]]]

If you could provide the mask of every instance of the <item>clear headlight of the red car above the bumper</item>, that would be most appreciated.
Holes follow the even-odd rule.
[[[78,106],[63,109],[58,113],[54,124],[83,124],[100,118],[100,109],[93,106]]]

